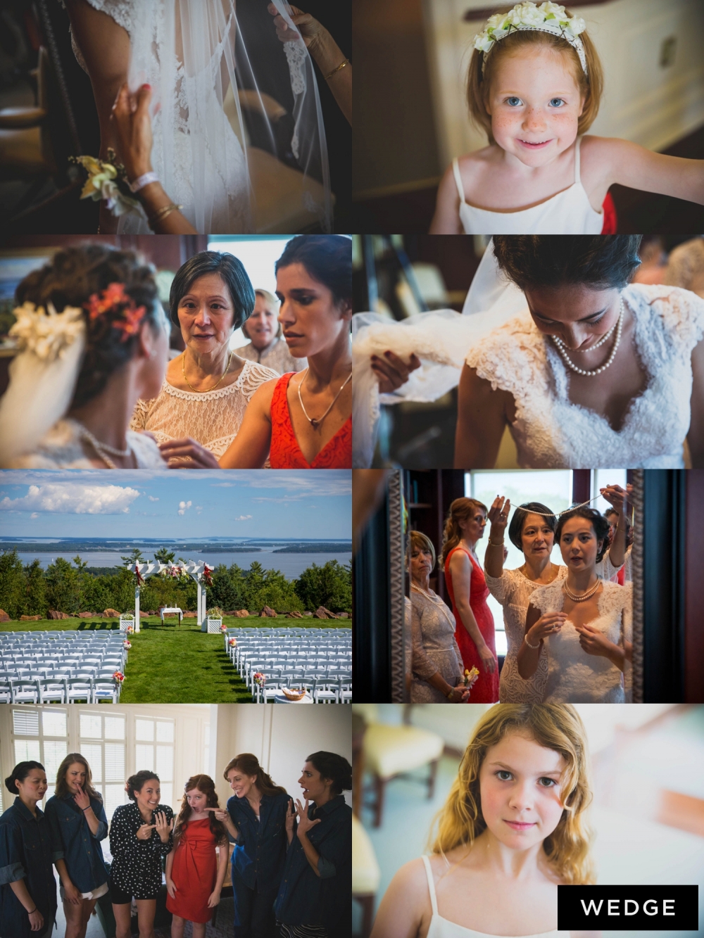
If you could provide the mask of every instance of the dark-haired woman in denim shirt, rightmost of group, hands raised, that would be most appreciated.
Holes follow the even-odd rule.
[[[308,756],[286,818],[292,836],[274,905],[283,938],[349,938],[352,933],[352,766],[336,752]],[[295,821],[298,818],[298,825]]]

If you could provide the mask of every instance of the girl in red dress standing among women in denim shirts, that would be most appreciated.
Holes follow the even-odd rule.
[[[192,776],[174,825],[174,849],[166,856],[166,908],[174,915],[171,938],[183,938],[187,921],[193,923],[193,938],[205,938],[207,922],[220,902],[230,850],[215,810],[220,804],[213,779]]]

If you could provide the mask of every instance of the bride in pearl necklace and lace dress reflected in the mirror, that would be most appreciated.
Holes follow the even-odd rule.
[[[533,592],[517,655],[524,678],[547,657],[543,703],[624,701],[632,589],[630,583],[601,580],[596,572],[608,534],[609,523],[596,508],[575,507],[559,516],[555,537],[567,574]]]

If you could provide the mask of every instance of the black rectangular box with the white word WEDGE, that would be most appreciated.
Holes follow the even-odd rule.
[[[698,931],[696,885],[559,885],[560,930]]]

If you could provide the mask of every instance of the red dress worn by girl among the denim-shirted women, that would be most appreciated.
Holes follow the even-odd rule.
[[[171,878],[176,885],[176,897],[166,897],[166,908],[189,922],[209,922],[213,910],[207,900],[215,888],[218,857],[215,854],[215,835],[210,830],[209,818],[189,821],[174,848]]]

